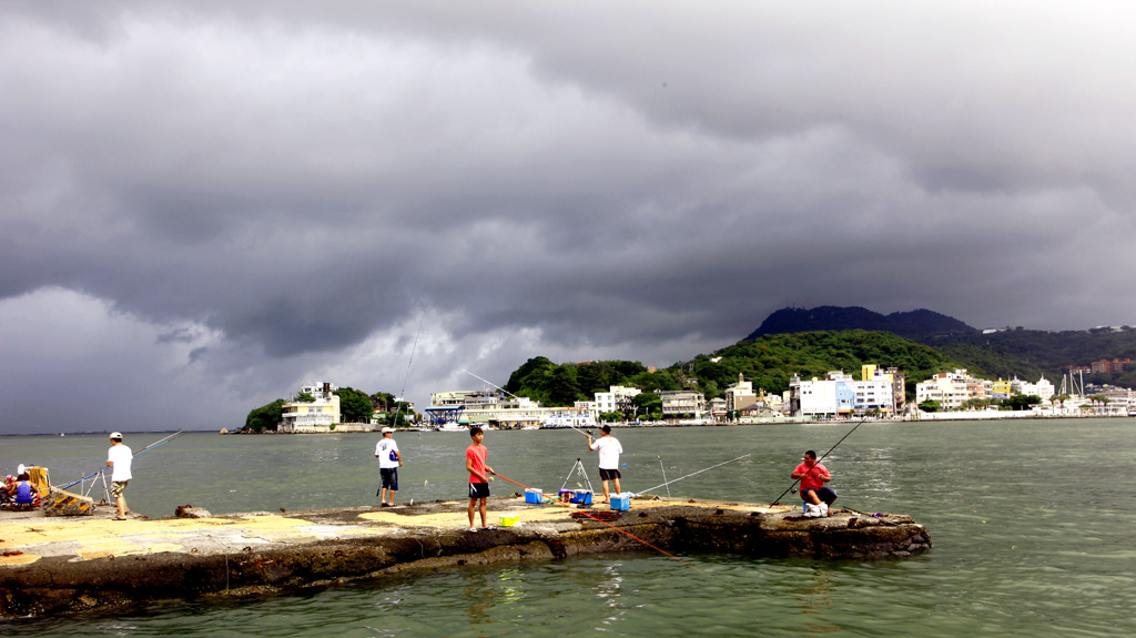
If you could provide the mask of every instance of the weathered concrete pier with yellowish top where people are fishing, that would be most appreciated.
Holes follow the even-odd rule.
[[[653,551],[643,542],[676,554],[822,559],[930,548],[926,528],[901,514],[837,509],[825,519],[804,519],[800,505],[655,497],[632,501],[630,511],[605,524],[516,495],[490,498],[490,522],[498,529],[470,532],[467,504],[126,521],[112,520],[107,507],[77,518],[0,512],[0,618],[327,587],[407,570]],[[613,514],[604,505],[584,511]],[[510,514],[517,524],[500,527],[500,517]]]

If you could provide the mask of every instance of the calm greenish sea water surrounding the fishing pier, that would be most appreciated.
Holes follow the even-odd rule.
[[[615,434],[625,489],[751,454],[670,489],[768,503],[788,487],[805,448],[824,453],[851,427]],[[126,443],[140,450],[162,436]],[[406,459],[399,501],[465,496],[468,437],[396,439]],[[135,459],[127,496],[151,517],[183,504],[215,513],[374,504],[376,440],[191,433]],[[513,480],[558,489],[579,457],[600,487],[594,453],[571,430],[492,431],[485,444],[490,464]],[[99,469],[106,447],[102,436],[0,437],[0,471],[40,464],[57,485],[69,482]],[[303,595],[0,622],[0,635],[1136,635],[1136,420],[866,423],[825,464],[837,505],[911,514],[930,529],[932,552],[868,562],[683,556],[710,576],[652,552],[457,568]],[[515,489],[494,484],[494,494]]]

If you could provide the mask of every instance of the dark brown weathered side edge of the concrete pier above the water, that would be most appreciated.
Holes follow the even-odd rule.
[[[673,506],[627,512],[612,523],[673,553],[878,559],[930,548],[926,528],[910,517],[855,513],[804,520],[785,513]],[[574,555],[651,551],[599,522],[538,523],[481,534],[414,531],[200,555],[158,553],[85,561],[57,556],[0,576],[0,618],[74,613],[160,599],[247,596],[415,570],[466,564],[551,561]]]

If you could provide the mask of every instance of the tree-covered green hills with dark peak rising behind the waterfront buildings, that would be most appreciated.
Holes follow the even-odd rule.
[[[813,309],[809,311],[815,313],[813,317],[804,317],[804,324],[795,326],[833,321],[834,317],[841,321],[866,317],[870,324],[877,325],[884,317],[863,309],[836,310],[841,309]],[[822,312],[816,314],[817,311]],[[1062,333],[1016,328],[980,334],[950,317],[930,311],[893,313],[885,318],[893,326],[903,326],[907,331],[919,335],[917,342],[884,330],[801,331],[790,321],[794,317],[801,319],[803,316],[800,312],[778,311],[775,314],[776,320],[767,320],[762,324],[763,329],[793,330],[758,336],[754,333],[711,354],[700,354],[654,372],[648,371],[637,361],[557,364],[544,356],[536,356],[510,376],[506,389],[544,405],[592,401],[596,392],[607,392],[613,385],[648,392],[699,389],[707,397],[715,397],[722,396],[726,387],[737,383],[737,376],[743,375],[755,388],[779,394],[788,389],[793,375],[802,379],[824,378],[830,370],[843,370],[859,378],[861,366],[875,363],[904,372],[908,395],[913,397],[916,384],[955,368],[966,368],[971,375],[986,379],[1017,376],[1036,381],[1045,376],[1058,384],[1070,366],[1087,366],[1101,359],[1136,360],[1136,330],[1128,327]],[[912,327],[912,318],[919,317],[929,317],[933,325],[926,330]],[[1086,376],[1085,380],[1134,387],[1136,369],[1129,368],[1117,373]]]

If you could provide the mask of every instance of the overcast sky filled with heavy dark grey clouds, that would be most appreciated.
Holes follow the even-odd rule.
[[[462,369],[666,367],[786,305],[1136,324],[1133,24],[6,3],[0,433],[234,428],[318,380],[421,409],[484,387]]]

